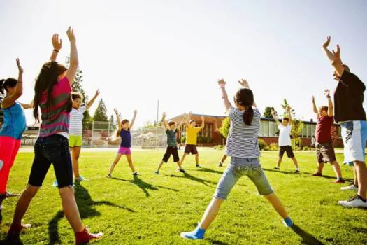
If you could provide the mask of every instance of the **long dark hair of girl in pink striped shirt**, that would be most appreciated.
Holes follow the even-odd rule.
[[[57,78],[66,71],[66,67],[57,62],[46,62],[43,64],[41,71],[36,79],[36,84],[34,85],[34,109],[33,115],[36,122],[40,121],[38,115],[38,106],[40,104],[43,92],[47,92],[46,108],[48,113],[48,118],[50,118],[50,108],[52,106],[52,91],[54,85],[57,84]],[[71,110],[72,102],[71,98],[69,102],[65,104],[66,109]]]

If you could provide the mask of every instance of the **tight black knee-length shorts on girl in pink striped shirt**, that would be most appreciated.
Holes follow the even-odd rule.
[[[34,160],[28,183],[42,186],[51,164],[54,166],[59,188],[73,186],[73,163],[69,151],[69,140],[59,134],[38,137],[34,144]]]

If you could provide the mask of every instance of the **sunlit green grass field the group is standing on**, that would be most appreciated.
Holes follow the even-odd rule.
[[[141,173],[134,180],[126,160],[115,168],[113,179],[107,179],[108,167],[115,153],[82,153],[80,170],[87,181],[75,186],[82,221],[91,232],[104,232],[94,244],[189,244],[180,232],[195,228],[211,200],[225,167],[217,167],[222,151],[202,151],[202,169],[194,167],[189,156],[184,167],[187,174],[168,162],[154,175],[163,151],[136,151],[133,160]],[[301,174],[293,174],[290,160],[281,171],[273,171],[276,152],[264,152],[261,165],[266,171],[290,216],[294,229],[285,228],[280,216],[246,177],[233,188],[203,241],[194,244],[367,244],[367,210],[344,209],[350,191],[341,191],[334,181],[330,166],[324,177],[311,177],[315,172],[313,153],[297,153]],[[181,155],[181,153],[180,153]],[[338,154],[342,162],[342,155]],[[10,173],[8,190],[20,193],[27,183],[33,153],[20,153]],[[229,159],[225,165],[228,165]],[[348,181],[352,169],[342,166]],[[55,174],[51,168],[43,187],[31,203],[24,223],[33,225],[22,232],[24,244],[71,244],[73,231],[62,217],[57,188],[52,187]],[[349,184],[348,182],[347,184]],[[3,202],[0,240],[3,244],[17,198]]]

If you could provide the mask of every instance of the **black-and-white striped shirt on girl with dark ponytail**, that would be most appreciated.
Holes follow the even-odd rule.
[[[251,125],[243,122],[243,113],[236,108],[229,109],[229,120],[231,127],[226,139],[226,155],[234,158],[259,158],[259,129],[260,117],[259,109],[254,108],[254,118]]]

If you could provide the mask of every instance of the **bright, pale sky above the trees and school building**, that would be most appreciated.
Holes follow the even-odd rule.
[[[0,77],[24,67],[24,95],[34,96],[34,78],[52,52],[50,38],[64,41],[75,28],[84,87],[97,88],[108,106],[137,125],[157,117],[194,113],[223,115],[216,81],[227,80],[232,97],[245,78],[261,111],[283,98],[296,116],[312,118],[310,97],[325,104],[335,90],[322,44],[341,47],[343,62],[367,79],[367,2],[354,1],[0,1]],[[96,103],[97,104],[97,103]],[[94,111],[96,104],[92,107]],[[161,114],[161,113],[160,113]],[[160,117],[161,115],[159,115]],[[28,123],[33,121],[27,112]]]

